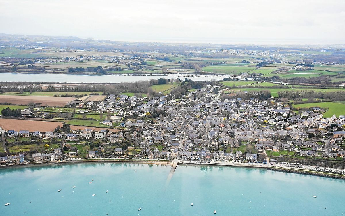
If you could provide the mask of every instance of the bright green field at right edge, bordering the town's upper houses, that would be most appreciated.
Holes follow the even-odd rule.
[[[323,113],[324,117],[331,117],[333,114],[338,116],[345,115],[345,102],[317,102],[317,103],[305,103],[305,104],[293,104],[296,108],[310,108],[314,106],[319,106],[322,108],[328,108],[326,112]]]

